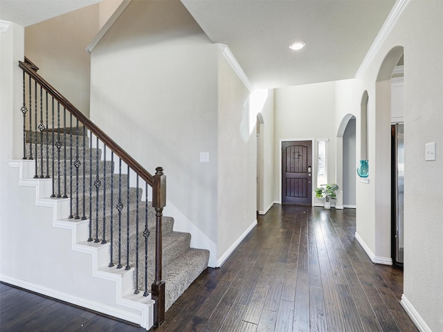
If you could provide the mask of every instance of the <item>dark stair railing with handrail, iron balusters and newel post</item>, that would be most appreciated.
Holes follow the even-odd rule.
[[[143,295],[149,295],[148,279],[154,274],[151,286],[155,301],[154,325],[160,326],[165,320],[161,225],[166,203],[166,176],[163,169],[157,167],[154,176],[147,172],[46,82],[37,73],[39,68],[28,58],[19,62],[19,67],[23,70],[23,158],[35,160],[34,178],[52,178],[51,197],[70,200],[69,219],[89,219],[87,241],[110,242],[110,268],[123,268],[125,264],[125,269],[129,270],[134,265],[134,293],[140,293],[139,285],[143,284]],[[114,163],[118,164],[118,172]],[[140,180],[144,181],[144,186]],[[116,183],[117,192],[114,190]],[[139,188],[144,188],[144,197]],[[152,192],[155,210],[155,252],[150,252],[148,246],[149,192]],[[135,236],[130,233],[132,223],[136,224]],[[144,257],[139,255],[142,250]],[[135,261],[129,255],[134,251]],[[154,267],[149,264],[150,254],[155,255]]]

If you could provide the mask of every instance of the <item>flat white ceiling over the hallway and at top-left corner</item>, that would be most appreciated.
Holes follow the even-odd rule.
[[[97,2],[0,0],[0,18],[29,26]],[[181,2],[213,42],[229,46],[256,89],[354,78],[395,4],[395,0]],[[298,40],[306,43],[305,48],[290,50],[289,44]]]

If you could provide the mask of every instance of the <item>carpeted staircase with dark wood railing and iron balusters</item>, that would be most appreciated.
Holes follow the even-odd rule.
[[[107,248],[108,261],[93,259],[100,262],[97,270],[122,276],[134,271],[130,288],[135,295],[155,300],[158,326],[164,319],[163,306],[168,310],[207,268],[208,250],[190,248],[190,234],[174,232],[174,219],[163,216],[161,167],[151,176],[44,81],[37,66],[27,61],[20,67],[24,69],[23,151],[27,164],[35,165],[33,178],[51,178],[51,200],[69,201],[66,220],[87,225],[89,235],[75,239],[73,247]]]

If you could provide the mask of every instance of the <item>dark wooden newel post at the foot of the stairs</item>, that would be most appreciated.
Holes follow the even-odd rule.
[[[159,327],[165,322],[165,282],[161,277],[162,261],[162,236],[161,219],[163,208],[166,206],[166,176],[163,168],[157,167],[152,186],[152,207],[155,208],[156,233],[155,233],[155,280],[152,284],[152,298],[154,306],[154,326]]]

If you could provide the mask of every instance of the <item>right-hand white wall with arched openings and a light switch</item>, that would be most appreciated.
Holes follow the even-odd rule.
[[[404,46],[406,160],[402,304],[413,315],[421,331],[443,331],[443,210],[440,203],[443,190],[438,185],[435,187],[443,181],[440,172],[443,167],[443,159],[440,158],[443,155],[443,95],[440,89],[443,69],[434,65],[440,63],[440,55],[443,53],[443,44],[439,42],[443,28],[442,12],[441,1],[411,1],[397,25],[370,59],[363,75],[343,86],[345,90],[338,91],[341,95],[347,95],[349,100],[349,107],[338,110],[340,114],[360,109],[361,96],[365,90],[368,91],[370,183],[357,181],[356,226],[357,233],[374,257],[390,257],[390,218],[386,216],[389,203],[383,199],[386,194],[383,194],[383,185],[386,184],[383,179],[388,178],[383,174],[383,169],[389,156],[378,151],[383,144],[389,144],[376,138],[383,128],[389,129],[390,110],[389,107],[386,110],[386,104],[390,103],[390,95],[385,92],[377,95],[386,89],[380,89],[380,84],[376,89],[375,82],[379,68],[390,50]],[[390,85],[389,82],[386,85]],[[383,98],[385,102],[382,102]],[[356,118],[359,143],[359,113]],[[426,142],[437,143],[436,161],[424,160]]]

